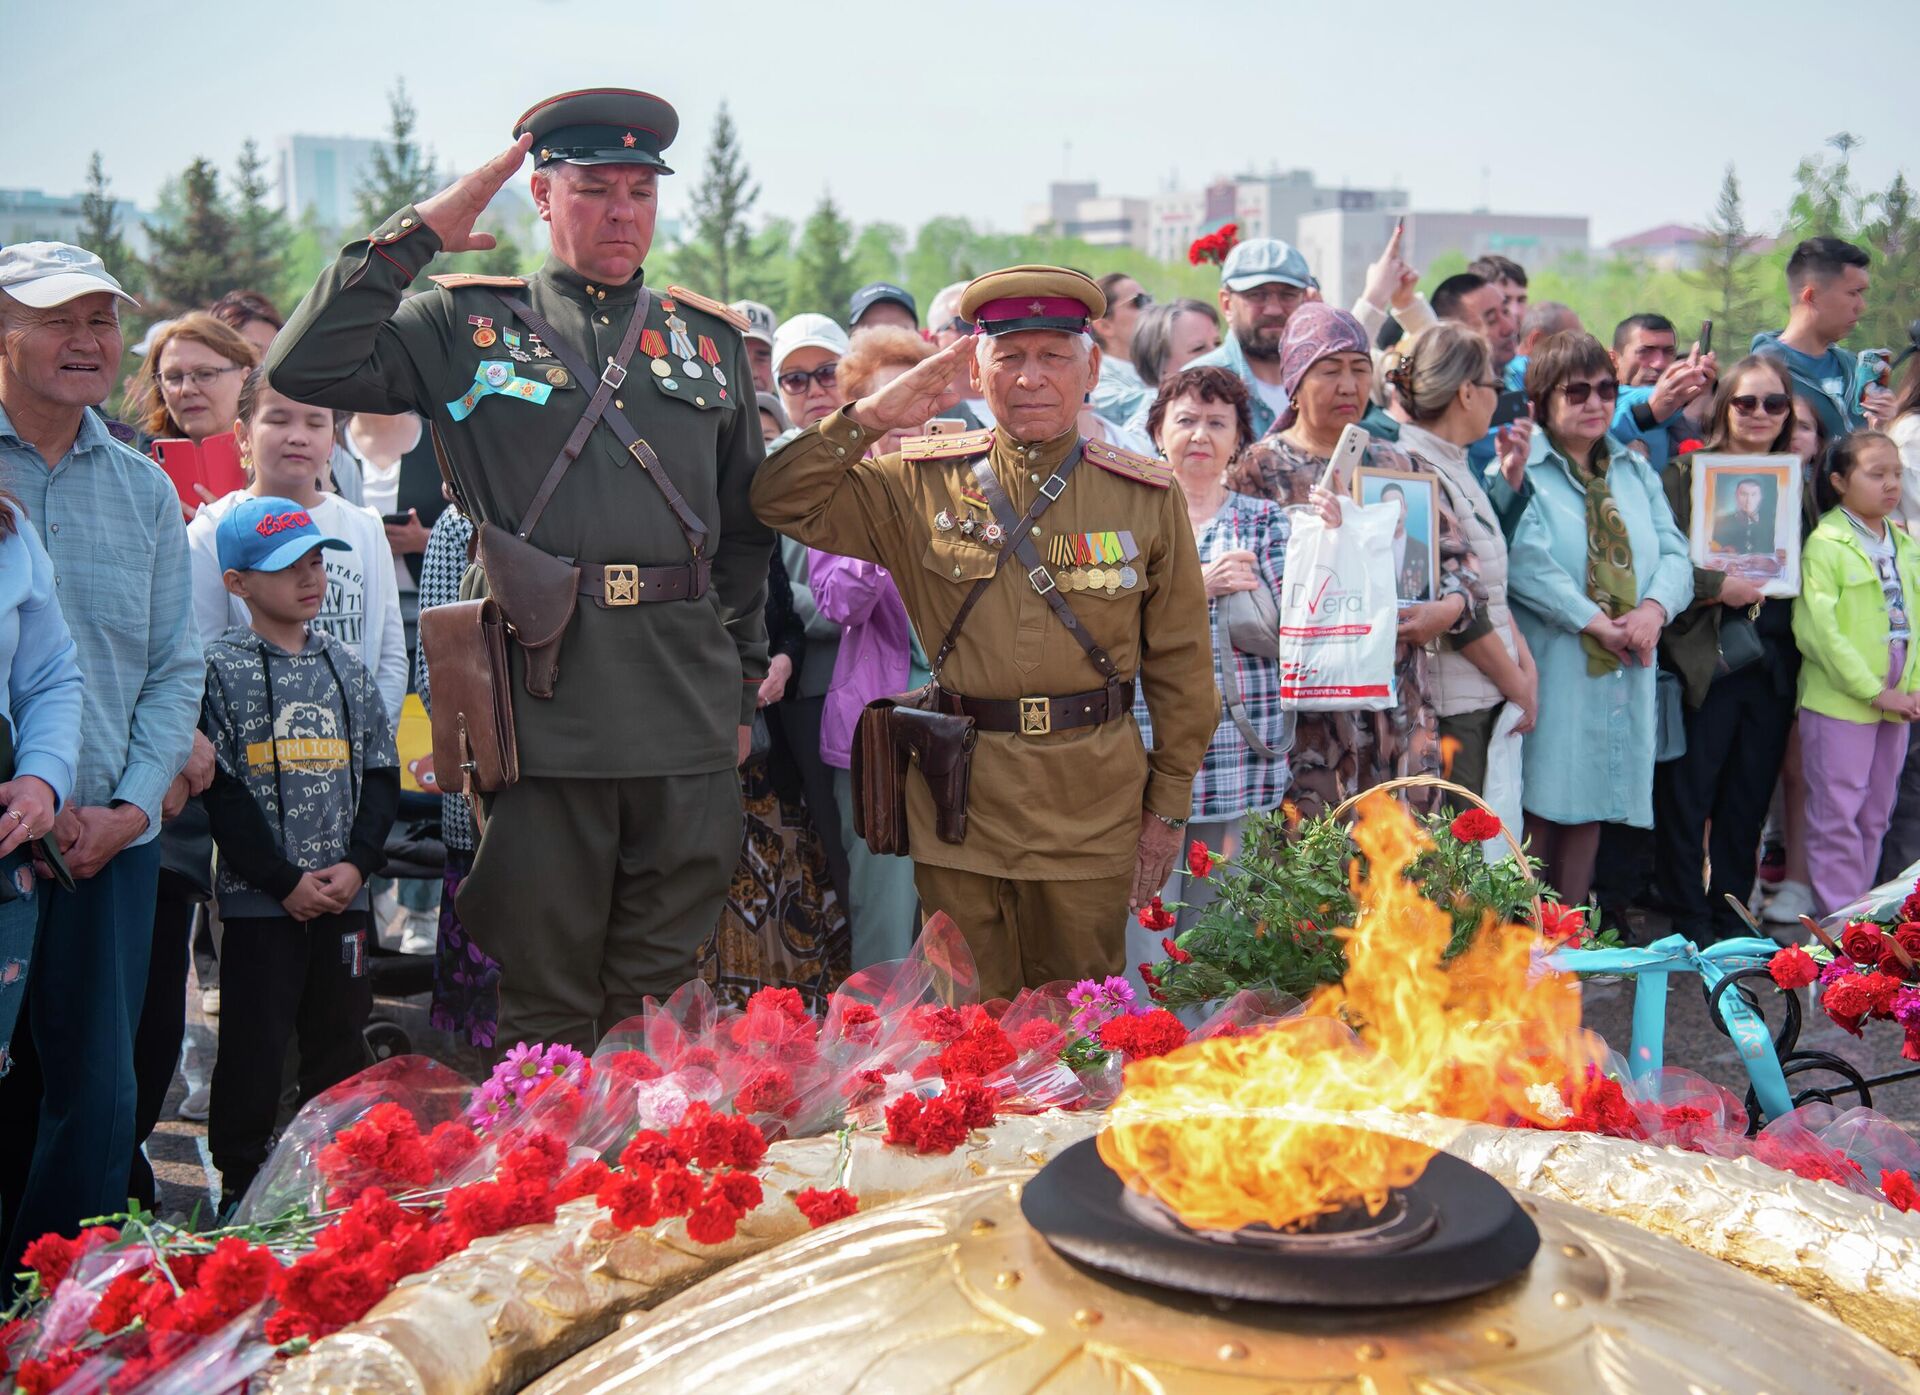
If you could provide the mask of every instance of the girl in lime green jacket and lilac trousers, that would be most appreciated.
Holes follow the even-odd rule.
[[[1868,890],[1893,814],[1907,723],[1920,718],[1920,543],[1887,520],[1901,501],[1901,455],[1880,432],[1834,443],[1820,518],[1793,603],[1799,645],[1807,869],[1830,915]]]

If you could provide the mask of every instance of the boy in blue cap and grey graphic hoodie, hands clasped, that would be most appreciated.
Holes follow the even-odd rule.
[[[273,1140],[280,1065],[300,1032],[300,1101],[369,1063],[367,879],[399,810],[399,758],[359,656],[309,622],[321,553],[348,547],[292,499],[246,499],[215,533],[252,626],[207,649],[200,727],[213,743],[221,1048],[207,1146],[234,1205]]]

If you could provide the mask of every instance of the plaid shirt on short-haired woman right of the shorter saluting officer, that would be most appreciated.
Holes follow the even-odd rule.
[[[1244,493],[1229,493],[1219,512],[1198,530],[1194,543],[1200,547],[1200,564],[1213,562],[1221,553],[1246,551],[1260,558],[1260,574],[1273,591],[1273,601],[1281,599],[1281,576],[1286,568],[1286,537],[1290,526],[1286,512],[1267,501]],[[1210,624],[1219,624],[1219,597],[1208,597]],[[1229,650],[1235,674],[1240,679],[1240,700],[1246,704],[1246,718],[1260,733],[1260,739],[1279,760],[1267,760],[1246,745],[1240,727],[1221,708],[1219,725],[1213,727],[1213,741],[1200,762],[1194,777],[1194,804],[1190,819],[1235,819],[1242,814],[1279,808],[1286,794],[1288,768],[1286,748],[1292,745],[1292,714],[1281,710],[1281,666],[1271,658],[1256,658],[1240,650]],[[1219,681],[1219,645],[1213,647],[1213,685]],[[1140,723],[1140,741],[1148,748],[1154,745],[1154,729],[1146,720],[1146,702],[1135,697],[1133,716]]]

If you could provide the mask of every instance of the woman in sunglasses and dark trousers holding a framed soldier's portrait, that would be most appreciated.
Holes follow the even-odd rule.
[[[1720,380],[1699,449],[1793,449],[1793,386],[1778,359],[1741,359]],[[1661,484],[1684,528],[1693,453],[1668,464]],[[1745,578],[1695,568],[1693,604],[1661,637],[1661,662],[1686,683],[1686,754],[1653,771],[1653,904],[1682,934],[1724,940],[1747,933],[1726,900],[1745,906],[1753,894],[1761,827],[1793,729],[1793,603],[1764,601]],[[1711,887],[1701,858],[1713,867]]]

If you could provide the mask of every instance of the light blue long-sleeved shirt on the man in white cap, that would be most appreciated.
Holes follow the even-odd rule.
[[[54,595],[86,679],[71,802],[125,802],[159,833],[159,804],[194,748],[205,679],[194,643],[186,524],[159,466],[88,411],[52,468],[0,411],[0,484],[54,562]]]

